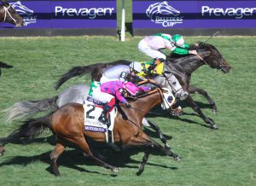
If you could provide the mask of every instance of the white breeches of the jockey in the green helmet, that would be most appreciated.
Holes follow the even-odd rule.
[[[148,44],[144,41],[141,40],[138,44],[138,50],[140,52],[143,52],[145,55],[148,55],[151,58],[162,58],[164,60],[166,60],[166,55],[164,55],[163,53],[161,53],[158,50],[155,49],[151,49]]]

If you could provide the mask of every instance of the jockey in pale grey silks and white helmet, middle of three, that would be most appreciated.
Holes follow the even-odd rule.
[[[126,65],[118,65],[114,67],[108,68],[107,71],[105,71],[102,74],[102,78],[100,80],[101,84],[104,84],[108,81],[126,81],[128,75],[131,75],[131,77],[138,78],[137,73],[142,72],[142,66],[141,63],[134,61],[131,62],[130,66]]]

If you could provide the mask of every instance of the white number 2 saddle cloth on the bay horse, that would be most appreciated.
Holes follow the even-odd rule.
[[[116,116],[116,108],[114,107],[108,113],[108,120],[110,121],[110,125],[102,124],[98,120],[102,113],[102,106],[103,103],[96,101],[91,96],[86,98],[86,101],[83,104],[84,107],[84,131],[95,131],[95,132],[102,132],[105,133],[106,142],[108,142],[108,137],[111,136],[113,142],[113,123],[114,118]],[[111,132],[111,135],[108,134]]]

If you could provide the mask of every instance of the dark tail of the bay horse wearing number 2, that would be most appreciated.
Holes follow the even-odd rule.
[[[26,120],[8,137],[0,138],[0,143],[5,145],[9,142],[20,142],[23,139],[32,140],[34,137],[40,135],[45,129],[51,129],[50,115],[46,115],[38,119]]]

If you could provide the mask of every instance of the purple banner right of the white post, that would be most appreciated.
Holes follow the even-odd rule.
[[[256,1],[133,0],[134,29],[255,28]]]

